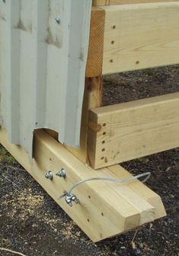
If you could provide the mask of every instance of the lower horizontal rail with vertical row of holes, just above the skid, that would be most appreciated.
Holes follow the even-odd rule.
[[[93,109],[88,155],[100,168],[179,146],[179,92]]]

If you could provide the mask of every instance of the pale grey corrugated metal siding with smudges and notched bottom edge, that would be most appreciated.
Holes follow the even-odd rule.
[[[90,17],[91,0],[0,2],[0,125],[30,153],[37,128],[79,146]]]

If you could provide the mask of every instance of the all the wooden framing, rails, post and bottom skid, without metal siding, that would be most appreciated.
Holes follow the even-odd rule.
[[[101,241],[165,216],[160,196],[133,180],[84,183],[75,190],[80,203],[73,208],[58,198],[87,178],[132,177],[120,162],[179,146],[179,92],[101,107],[104,74],[179,63],[179,1],[94,0],[93,5],[81,147],[62,145],[56,132],[40,129],[30,161],[4,128],[0,142],[92,241]],[[66,179],[46,179],[45,173],[62,168]]]

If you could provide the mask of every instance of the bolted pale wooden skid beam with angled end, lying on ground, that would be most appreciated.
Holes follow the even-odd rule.
[[[80,203],[74,203],[71,208],[58,197],[79,180],[91,177],[124,179],[131,177],[131,174],[120,166],[93,170],[43,130],[35,132],[32,163],[22,147],[8,142],[7,132],[2,128],[0,141],[93,241],[165,215],[160,197],[139,180],[126,184],[104,181],[84,183],[73,191]],[[66,170],[66,179],[55,175],[62,168]],[[53,171],[53,180],[44,177],[49,170]]]

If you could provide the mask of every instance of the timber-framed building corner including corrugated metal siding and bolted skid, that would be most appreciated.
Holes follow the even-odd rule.
[[[28,5],[31,5],[30,2],[24,2],[23,8],[20,8],[19,3],[11,2],[15,7],[13,13],[10,5],[7,5],[8,15],[13,22],[19,21],[18,15],[21,15],[21,11],[27,13]],[[0,142],[92,241],[101,241],[166,215],[161,197],[138,179],[133,179],[133,175],[119,164],[179,146],[179,92],[117,105],[101,106],[101,101],[103,76],[108,73],[179,63],[179,0],[93,0],[92,3],[91,10],[91,2],[85,0],[82,1],[82,8],[78,8],[74,0],[65,1],[64,9],[61,8],[60,1],[56,2],[56,5],[50,2],[53,10],[49,18],[47,2],[37,2],[33,5],[33,8],[37,8],[34,14],[37,15],[41,6],[43,20],[46,22],[39,22],[36,17],[37,24],[34,23],[34,29],[29,29],[28,26],[8,28],[11,22],[4,27],[6,21],[0,19],[0,45],[1,42],[4,44],[8,56],[5,58],[5,65],[4,60],[0,62],[3,73],[0,83],[5,81],[4,78],[7,79],[7,86],[4,84],[3,87],[5,99],[2,100],[1,108],[4,108],[4,112],[7,109],[9,111],[5,125],[11,119],[9,130],[3,126],[4,121],[2,122]],[[59,10],[67,10],[64,13],[68,15],[69,23],[63,20],[61,22],[59,17],[51,18],[56,15],[56,6]],[[73,8],[76,12],[72,11]],[[88,9],[90,11],[87,11]],[[81,14],[80,21],[77,19],[77,13]],[[85,15],[88,15],[88,18]],[[91,25],[88,33],[90,15]],[[31,19],[26,15],[23,17],[27,18],[27,23]],[[79,26],[80,22],[82,24]],[[46,29],[46,24],[51,26],[51,31],[49,27]],[[10,49],[17,53],[18,63],[22,61],[19,66],[16,66],[17,61],[13,57],[10,58],[10,44],[6,44],[10,33],[6,33],[6,30],[11,31],[12,35]],[[52,35],[48,35],[44,41],[46,31],[49,34],[52,32]],[[3,41],[1,33],[8,35],[6,41]],[[77,41],[74,40],[72,44],[75,33],[78,33]],[[16,44],[12,44],[13,38]],[[0,47],[0,50],[2,49],[3,47]],[[3,49],[1,57],[5,57],[5,50]],[[83,50],[86,56],[88,52],[86,62]],[[28,54],[33,57],[30,58],[31,62],[24,66]],[[39,65],[40,61],[42,62],[41,57],[44,57],[43,66]],[[8,63],[9,60],[14,65],[13,69],[11,63]],[[4,66],[8,66],[9,72],[12,72],[11,79]],[[16,73],[19,76],[16,76]],[[31,75],[34,78],[32,82]],[[75,86],[72,84],[73,79]],[[27,83],[27,92],[30,92],[38,110],[30,116],[30,127],[33,127],[34,131],[32,160],[30,152],[27,153],[22,146],[26,139],[30,141],[32,134],[26,134],[28,124],[21,121],[21,117],[31,110],[32,103],[29,101],[26,105],[26,99],[22,99],[21,104],[17,104],[21,95],[27,93],[23,87],[26,80],[30,81]],[[85,93],[83,107],[80,108],[84,80]],[[7,89],[10,82],[15,101],[9,93],[10,89]],[[37,88],[33,91],[31,89],[35,87],[35,83]],[[53,89],[51,85],[54,86]],[[66,88],[63,88],[65,85]],[[8,104],[9,101],[11,104]],[[57,112],[53,112],[53,104]],[[77,114],[81,115],[81,109],[80,147],[75,148],[80,128]],[[41,116],[43,111],[44,115]],[[58,111],[60,113],[56,115]],[[15,120],[14,113],[18,113],[19,123]],[[53,113],[53,116],[50,113]],[[4,118],[5,115],[6,113]],[[39,118],[40,124],[36,118]],[[58,131],[62,131],[62,134],[41,128],[54,128],[56,125],[61,128]],[[78,132],[75,132],[75,129]],[[21,145],[11,144],[8,140],[9,134],[16,134],[17,137],[14,138],[20,138]],[[59,143],[60,136],[64,140],[59,141],[64,144]],[[74,147],[67,145],[66,141],[70,141],[68,136],[72,137],[71,142],[75,141],[72,144]],[[145,173],[145,170],[139,172]],[[128,182],[121,182],[126,179]],[[62,198],[59,199],[59,196]]]

